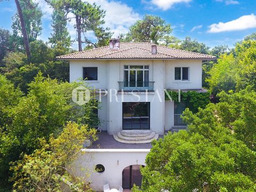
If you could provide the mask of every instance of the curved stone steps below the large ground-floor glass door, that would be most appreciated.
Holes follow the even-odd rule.
[[[150,143],[158,139],[158,134],[150,130],[123,130],[114,134],[115,140],[122,143]]]

